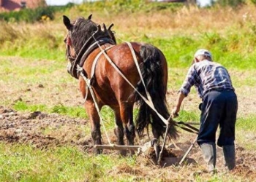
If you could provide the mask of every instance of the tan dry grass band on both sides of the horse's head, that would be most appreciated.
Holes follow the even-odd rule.
[[[76,10],[76,11],[75,11]],[[70,18],[88,17],[90,13],[79,12],[71,9]],[[13,41],[15,39],[31,39],[40,37],[41,39],[54,39],[56,36],[64,37],[66,30],[62,24],[63,12],[56,14],[55,22],[9,24],[1,22],[0,40]],[[173,34],[182,33],[197,35],[198,33],[216,31],[223,33],[233,28],[248,28],[247,23],[255,25],[255,6],[247,5],[239,9],[230,7],[215,9],[200,9],[198,7],[183,7],[176,12],[148,12],[130,13],[120,12],[118,16],[113,16],[108,12],[93,13],[93,20],[97,23],[110,25],[114,23],[114,30],[118,37],[122,39],[122,32],[129,33],[129,36],[145,33],[147,36],[167,37]],[[249,31],[249,30],[247,30]],[[152,34],[152,35],[151,35]],[[62,43],[62,42],[61,42]],[[56,44],[56,43],[55,43]],[[62,44],[61,44],[62,45]]]

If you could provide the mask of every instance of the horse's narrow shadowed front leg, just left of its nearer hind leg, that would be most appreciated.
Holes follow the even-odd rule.
[[[121,116],[120,116],[120,111],[119,108],[118,110],[115,110],[115,119],[116,119],[116,127],[115,127],[115,135],[117,138],[117,143],[120,146],[124,145],[124,126],[123,123],[121,122]],[[125,156],[127,154],[126,150],[120,151],[120,154],[122,156]]]

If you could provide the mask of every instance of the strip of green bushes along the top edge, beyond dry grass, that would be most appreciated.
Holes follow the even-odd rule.
[[[189,6],[189,2],[185,4]],[[238,7],[246,4],[256,4],[256,0],[211,0],[211,4],[211,8],[217,6]],[[157,1],[148,0],[103,0],[95,2],[84,2],[80,5],[69,3],[65,6],[48,6],[38,7],[37,9],[21,9],[20,11],[1,12],[0,20],[4,20],[6,22],[23,21],[26,23],[35,23],[37,21],[44,20],[45,17],[47,17],[49,20],[53,20],[55,17],[55,12],[67,12],[72,8],[75,8],[79,12],[108,11],[111,14],[117,15],[120,12],[134,13],[155,12],[163,10],[175,12],[183,6],[184,4],[182,3],[160,3]]]

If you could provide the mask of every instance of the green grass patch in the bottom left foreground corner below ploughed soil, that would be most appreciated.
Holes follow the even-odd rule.
[[[135,158],[99,155],[92,157],[72,147],[40,150],[31,146],[0,143],[1,181],[132,181],[108,173],[123,163],[132,167]]]

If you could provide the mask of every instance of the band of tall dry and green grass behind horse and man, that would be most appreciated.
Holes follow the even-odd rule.
[[[96,23],[115,24],[118,43],[154,44],[172,67],[187,68],[193,52],[204,47],[227,67],[256,68],[255,1],[219,0],[211,7],[197,7],[193,3],[113,0],[4,12],[0,13],[0,54],[63,61],[67,30],[62,15],[75,20],[93,14]]]

